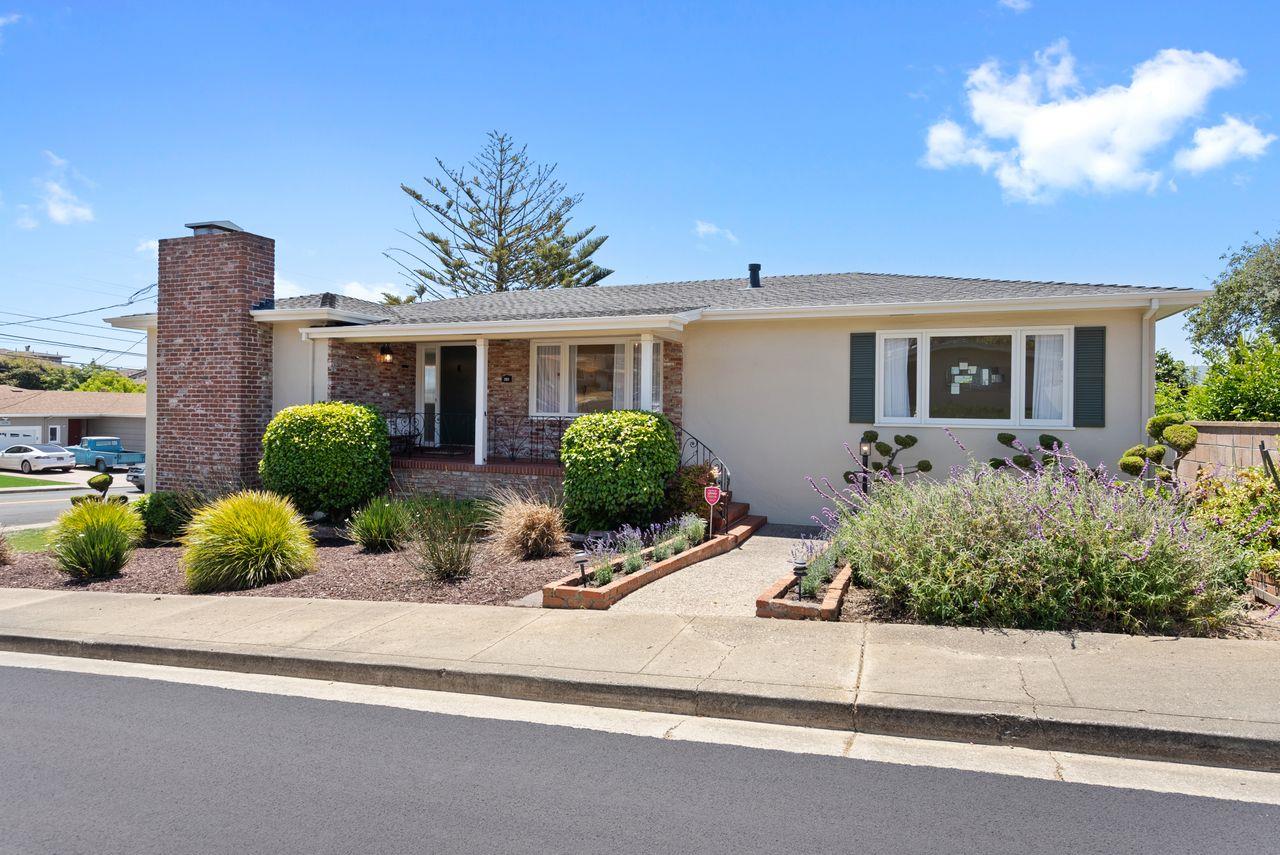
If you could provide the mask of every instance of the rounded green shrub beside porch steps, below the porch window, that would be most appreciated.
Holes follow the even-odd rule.
[[[649,522],[680,466],[671,421],[655,412],[616,410],[579,416],[561,440],[564,517],[575,531]]]

